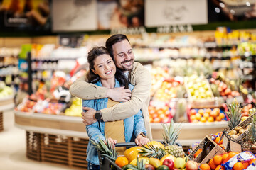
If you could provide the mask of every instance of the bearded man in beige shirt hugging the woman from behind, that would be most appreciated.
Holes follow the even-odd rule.
[[[99,119],[103,119],[105,122],[123,120],[142,109],[147,137],[152,140],[148,111],[151,88],[150,73],[142,64],[134,62],[134,53],[126,35],[112,35],[107,39],[106,47],[114,63],[127,75],[129,82],[134,85],[134,89],[131,95],[131,91],[124,87],[107,89],[88,84],[85,77],[80,77],[70,86],[70,93],[74,96],[85,100],[108,97],[114,101],[126,101],[100,111],[84,107],[83,109],[87,112],[86,114],[82,113],[83,122],[85,125],[90,125]]]

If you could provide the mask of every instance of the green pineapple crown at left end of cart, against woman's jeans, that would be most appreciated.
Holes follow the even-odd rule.
[[[100,138],[99,142],[95,142],[94,140],[90,140],[94,147],[97,149],[98,152],[104,157],[107,157],[112,162],[115,162],[115,159],[117,159],[117,152],[112,147],[112,145],[109,144],[107,141],[106,143]]]

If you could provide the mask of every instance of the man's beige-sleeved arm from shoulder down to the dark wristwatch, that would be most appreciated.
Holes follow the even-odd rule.
[[[100,110],[105,122],[123,120],[137,114],[146,99],[149,98],[149,91],[151,89],[151,75],[149,71],[142,64],[137,63],[131,76],[131,82],[134,84],[131,100]]]

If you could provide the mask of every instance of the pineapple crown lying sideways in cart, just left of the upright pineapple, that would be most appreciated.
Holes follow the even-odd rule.
[[[142,157],[154,157],[157,159],[161,159],[161,157],[164,157],[166,154],[164,148],[162,147],[155,147],[154,145],[151,145],[150,143],[147,143],[146,146],[142,145],[142,152],[139,152],[139,154]]]

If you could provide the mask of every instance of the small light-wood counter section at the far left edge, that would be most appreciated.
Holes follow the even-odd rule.
[[[0,131],[4,130],[4,111],[14,108],[14,96],[5,96],[0,98]]]

